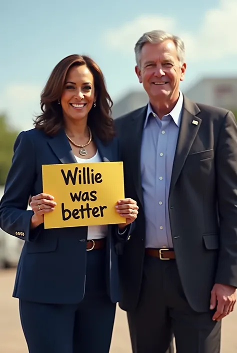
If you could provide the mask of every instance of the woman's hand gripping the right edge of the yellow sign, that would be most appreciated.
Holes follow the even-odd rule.
[[[120,230],[132,223],[137,217],[138,206],[136,201],[130,198],[117,201],[115,208],[120,216],[126,218],[126,223],[118,224]]]

